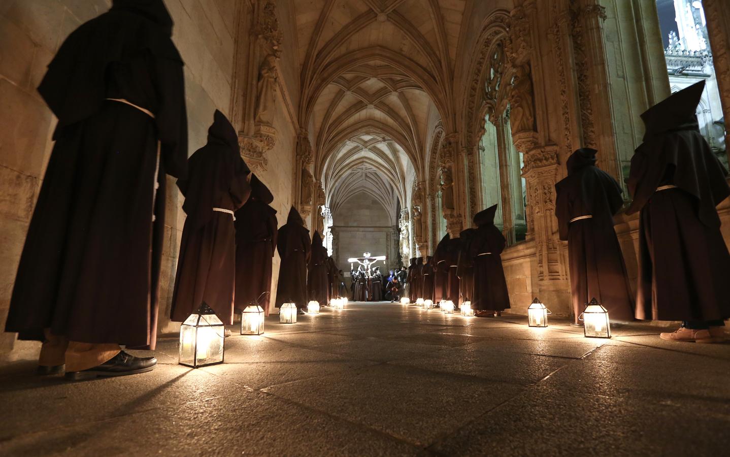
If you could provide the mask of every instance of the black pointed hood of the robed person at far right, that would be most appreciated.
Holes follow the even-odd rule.
[[[641,115],[646,128],[644,141],[680,126],[696,125],[697,105],[702,99],[703,91],[704,80],[672,93],[671,96],[646,110]]]

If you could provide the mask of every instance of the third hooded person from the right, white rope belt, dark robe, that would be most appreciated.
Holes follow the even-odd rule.
[[[477,229],[469,242],[469,256],[474,262],[475,310],[503,311],[510,307],[510,294],[504,279],[502,258],[505,240],[502,232],[494,226],[497,205],[477,212],[474,223]]]

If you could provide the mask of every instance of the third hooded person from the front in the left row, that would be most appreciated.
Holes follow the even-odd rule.
[[[257,302],[269,315],[272,259],[277,242],[276,210],[269,188],[251,174],[251,196],[236,212],[236,309]]]

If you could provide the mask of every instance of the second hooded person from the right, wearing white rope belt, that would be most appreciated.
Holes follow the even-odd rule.
[[[633,320],[634,299],[613,215],[621,209],[621,186],[595,166],[596,151],[576,150],[568,176],[555,185],[560,239],[568,242],[573,319],[593,297],[615,320]]]

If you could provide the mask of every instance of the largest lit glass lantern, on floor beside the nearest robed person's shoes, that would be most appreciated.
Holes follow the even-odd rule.
[[[215,312],[203,302],[180,326],[180,365],[198,368],[223,363],[223,331]]]

